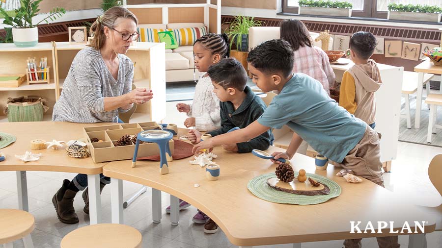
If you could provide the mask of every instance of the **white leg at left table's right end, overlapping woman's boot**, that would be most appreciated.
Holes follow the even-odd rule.
[[[101,223],[100,175],[87,175],[87,186],[89,189],[90,224],[98,224]]]

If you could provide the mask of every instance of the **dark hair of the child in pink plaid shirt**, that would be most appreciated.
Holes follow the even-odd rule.
[[[294,51],[301,47],[313,47],[307,27],[300,20],[287,19],[279,25],[281,39],[286,40]]]

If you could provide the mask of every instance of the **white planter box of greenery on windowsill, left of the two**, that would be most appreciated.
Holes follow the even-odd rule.
[[[351,17],[352,8],[347,1],[299,0],[298,14]]]

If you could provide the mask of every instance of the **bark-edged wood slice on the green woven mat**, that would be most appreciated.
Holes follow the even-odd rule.
[[[267,184],[278,191],[287,192],[291,194],[296,195],[303,195],[303,196],[322,196],[322,195],[329,195],[330,194],[330,188],[327,187],[327,185],[322,184],[321,182],[318,182],[320,184],[319,187],[313,187],[310,185],[310,183],[307,181],[305,182],[297,182],[292,181],[290,183],[282,182],[276,177],[272,177],[267,179]]]

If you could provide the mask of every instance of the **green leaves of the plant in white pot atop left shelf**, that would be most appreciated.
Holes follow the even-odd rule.
[[[0,8],[0,14],[4,16],[3,24],[15,28],[31,28],[42,22],[49,24],[48,20],[55,21],[55,19],[66,13],[64,8],[54,7],[54,9],[49,12],[49,16],[34,25],[32,24],[32,17],[36,16],[40,11],[38,6],[41,1],[42,0],[22,0],[22,6],[18,9],[14,9],[15,16],[9,15],[3,8]]]

